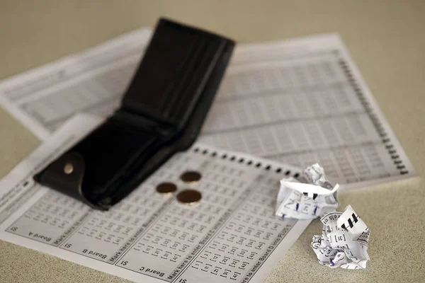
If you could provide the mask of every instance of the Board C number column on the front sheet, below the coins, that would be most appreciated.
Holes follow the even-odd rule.
[[[191,188],[200,191],[200,203],[189,206],[172,202],[167,211],[159,216],[152,229],[120,259],[118,265],[172,281],[203,248],[200,242],[208,241],[214,227],[225,221],[223,217],[234,209],[255,178],[255,175],[249,175],[242,169],[244,166],[238,163],[220,163],[217,158],[208,161],[210,158],[201,154],[200,158],[203,158],[205,163],[198,169],[202,174],[199,182],[177,182],[179,189]],[[185,170],[193,170],[192,165]],[[147,271],[154,267],[157,267],[157,273]]]

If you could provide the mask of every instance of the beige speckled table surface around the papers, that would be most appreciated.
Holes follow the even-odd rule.
[[[371,229],[366,270],[329,270],[310,249],[318,220],[265,282],[425,282],[425,1],[3,1],[0,79],[85,50],[159,16],[238,41],[339,32],[418,177],[341,192]],[[0,109],[0,176],[40,144]],[[0,241],[0,282],[125,280]]]

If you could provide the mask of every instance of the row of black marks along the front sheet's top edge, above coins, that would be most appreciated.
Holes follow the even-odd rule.
[[[283,176],[285,176],[286,178],[290,177],[290,175],[292,175],[292,177],[297,178],[298,176],[300,176],[299,172],[291,172],[290,170],[287,171],[283,171],[283,168],[281,167],[276,167],[276,166],[272,166],[271,164],[268,164],[264,161],[257,161],[255,162],[252,159],[246,159],[244,157],[239,157],[237,156],[237,154],[227,154],[227,153],[222,153],[220,154],[217,151],[211,151],[209,149],[200,149],[199,147],[195,147],[193,149],[193,152],[196,152],[198,154],[203,154],[203,155],[207,155],[210,154],[210,156],[212,157],[217,157],[217,158],[222,158],[231,162],[237,162],[237,163],[243,163],[246,166],[254,166],[256,168],[259,169],[264,169],[265,171],[274,171],[276,174],[281,174]]]

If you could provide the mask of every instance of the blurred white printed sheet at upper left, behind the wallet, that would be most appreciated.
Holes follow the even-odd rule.
[[[120,104],[150,36],[149,28],[135,30],[1,81],[0,103],[42,140],[77,112],[106,117]]]

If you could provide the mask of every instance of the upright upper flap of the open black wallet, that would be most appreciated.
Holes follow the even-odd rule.
[[[123,109],[181,129],[228,43],[218,35],[160,20]]]

